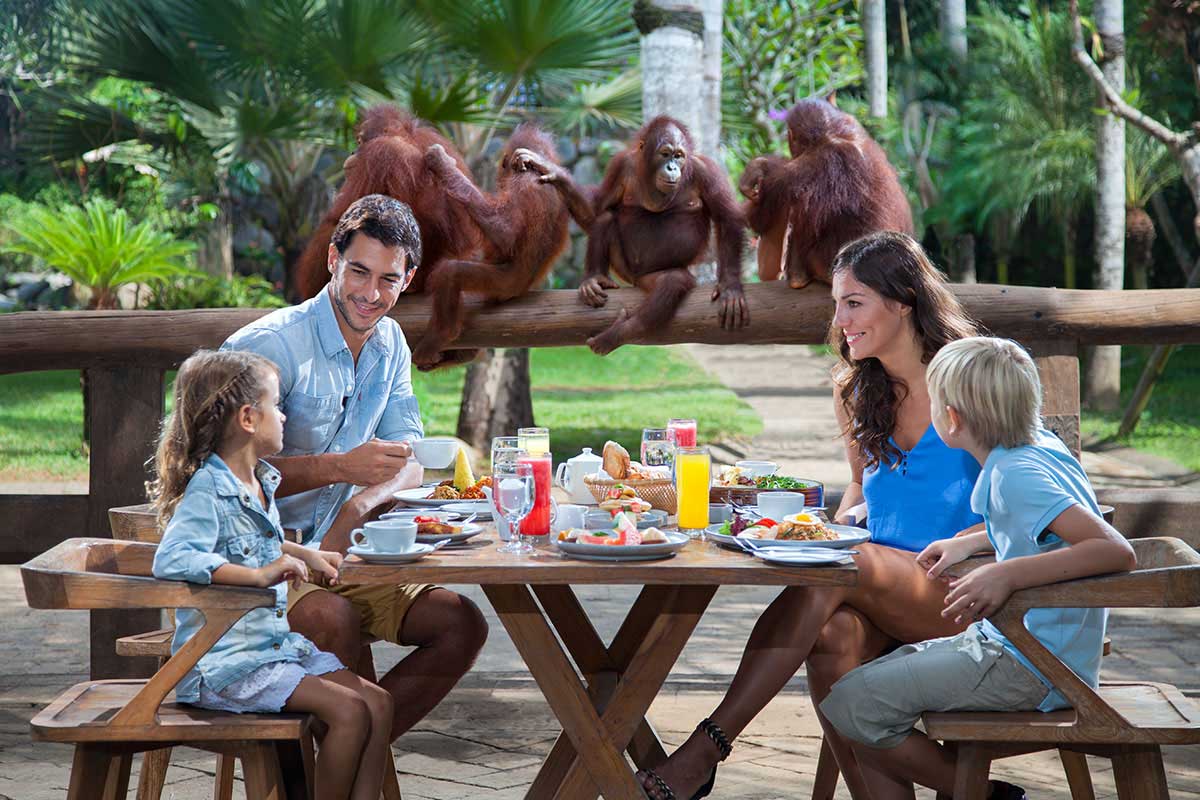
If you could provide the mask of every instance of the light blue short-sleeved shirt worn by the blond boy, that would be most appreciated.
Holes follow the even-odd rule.
[[[1045,429],[1038,431],[1032,445],[992,450],[971,495],[971,506],[988,524],[988,539],[996,548],[997,561],[1067,547],[1067,542],[1050,533],[1049,525],[1073,505],[1100,516],[1084,468],[1067,445]],[[1025,615],[1025,625],[1050,652],[1094,688],[1100,675],[1108,616],[1106,608],[1033,608]],[[1050,681],[1000,628],[989,620],[983,620],[980,627],[988,638],[1001,642],[1050,688]],[[1052,711],[1067,705],[1062,694],[1051,691],[1038,709]]]

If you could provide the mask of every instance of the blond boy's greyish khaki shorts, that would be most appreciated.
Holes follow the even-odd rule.
[[[1033,711],[1049,690],[972,625],[958,636],[905,644],[846,673],[821,714],[847,739],[895,747],[925,711]]]

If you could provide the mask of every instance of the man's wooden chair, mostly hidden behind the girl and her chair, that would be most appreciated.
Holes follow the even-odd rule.
[[[118,506],[108,510],[108,522],[113,539],[119,541],[145,542],[157,545],[162,541],[162,531],[154,510],[149,504]],[[173,613],[173,612],[172,612]],[[116,652],[122,656],[154,656],[160,660],[170,657],[170,642],[175,636],[174,618],[172,626],[124,636],[116,639]],[[362,644],[359,654],[360,676],[376,681],[374,656],[371,643]],[[142,757],[142,772],[138,778],[137,800],[158,800],[162,796],[167,766],[170,763],[170,748],[146,751]],[[389,770],[383,780],[383,800],[401,800],[400,780],[396,777],[396,763],[388,748]],[[233,798],[233,759],[217,756],[217,771],[212,789],[214,800],[232,800]]]

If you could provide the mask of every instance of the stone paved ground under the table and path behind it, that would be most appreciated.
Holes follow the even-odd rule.
[[[763,434],[749,450],[779,461],[790,473],[821,476],[830,486],[845,483],[848,474],[833,438],[824,359],[803,347],[690,349],[766,420]],[[1098,483],[1177,480],[1175,471],[1163,464],[1134,461],[1120,452],[1090,456],[1085,463]],[[485,609],[492,633],[476,669],[396,745],[404,798],[521,798],[558,727],[486,600],[476,588],[455,589]],[[580,591],[606,638],[616,631],[634,591],[628,587]],[[719,702],[737,669],[749,626],[773,596],[773,590],[760,588],[725,588],[718,594],[650,709],[650,721],[668,751]],[[0,800],[62,798],[70,751],[32,744],[28,723],[59,691],[85,678],[86,616],[82,612],[30,610],[17,567],[0,566]],[[1200,610],[1195,609],[1115,612],[1110,630],[1114,651],[1105,658],[1104,674],[1110,679],[1169,681],[1200,697],[1198,631]],[[376,645],[380,669],[402,655],[398,649]],[[713,796],[806,798],[818,745],[820,729],[802,672],[738,740],[733,756],[721,766]],[[1165,757],[1172,796],[1200,800],[1200,748],[1166,748]],[[212,769],[208,754],[179,753],[163,796],[211,796]],[[994,774],[1024,784],[1032,798],[1069,796],[1062,769],[1050,754],[1002,762]],[[1092,774],[1097,795],[1102,800],[1115,796],[1111,774],[1103,762],[1093,762]],[[240,781],[236,793],[244,796]],[[840,800],[846,796],[839,792]]]

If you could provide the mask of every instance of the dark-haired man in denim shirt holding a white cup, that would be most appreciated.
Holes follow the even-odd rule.
[[[409,446],[422,435],[409,349],[386,315],[420,260],[412,210],[364,197],[334,230],[329,285],[223,345],[280,368],[287,422],[283,450],[271,459],[283,474],[276,498],[283,527],[299,529],[310,547],[344,554],[350,531],[391,505],[394,492],[420,486]],[[305,584],[289,590],[288,621],[350,669],[366,636],[416,648],[379,680],[395,699],[392,739],[446,696],[487,638],[470,600],[428,585]]]

